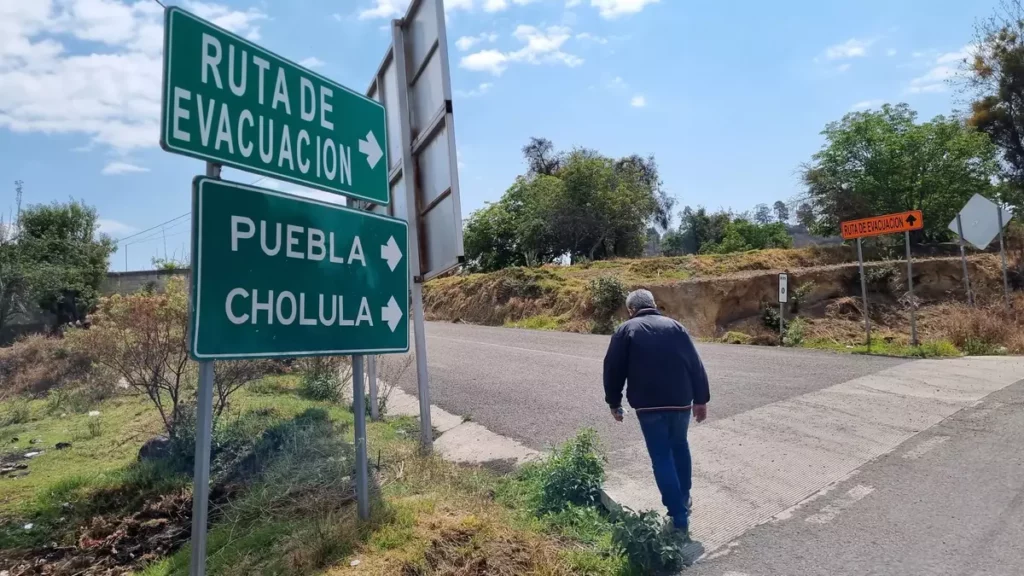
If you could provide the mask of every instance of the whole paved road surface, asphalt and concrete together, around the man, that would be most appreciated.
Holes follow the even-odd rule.
[[[607,341],[430,323],[431,401],[539,450],[594,427],[609,495],[657,509],[636,418],[603,403]],[[712,402],[690,430],[692,522],[710,553],[692,573],[1022,573],[1024,362],[697,348]],[[415,370],[399,383],[416,394]]]

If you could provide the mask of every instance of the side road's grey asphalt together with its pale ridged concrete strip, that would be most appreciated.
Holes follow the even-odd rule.
[[[608,453],[608,492],[635,509],[660,509],[639,425],[632,417],[614,423],[602,402],[607,337],[431,323],[427,340],[434,404],[537,450],[595,427]],[[713,553],[1024,379],[1020,359],[908,362],[725,344],[698,349],[712,404],[709,421],[691,430],[693,531]],[[401,386],[415,394],[415,375]],[[868,495],[850,490],[839,509]]]

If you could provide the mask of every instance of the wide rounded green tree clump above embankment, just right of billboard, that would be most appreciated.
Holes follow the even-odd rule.
[[[465,223],[466,256],[475,269],[536,265],[563,255],[639,256],[648,229],[668,228],[673,199],[662,189],[653,158],[555,153],[541,138],[523,153],[527,173]]]

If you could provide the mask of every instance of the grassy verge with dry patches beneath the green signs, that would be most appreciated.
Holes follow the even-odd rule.
[[[30,461],[29,476],[0,483],[0,548],[38,549],[51,541],[74,547],[83,534],[96,534],[96,519],[117,527],[155,498],[187,504],[187,476],[170,464],[136,462],[139,446],[161,431],[147,400],[116,397],[95,406],[101,415],[91,418],[52,414],[45,400],[28,406],[34,419],[2,431],[18,438],[18,450],[46,452]],[[267,377],[232,398],[214,433],[214,474],[240,488],[214,496],[211,574],[628,573],[611,521],[590,505],[592,483],[572,498],[579,504],[539,515],[538,494],[548,490],[553,501],[569,476],[544,488],[531,472],[503,477],[424,456],[410,417],[369,423],[378,484],[372,520],[358,521],[351,424],[346,406],[309,399],[296,376]],[[52,448],[72,437],[79,438],[72,449]],[[593,468],[589,448],[582,448],[558,461],[598,474],[600,462]],[[349,567],[352,560],[357,568]],[[188,562],[184,542],[140,573],[184,575]]]

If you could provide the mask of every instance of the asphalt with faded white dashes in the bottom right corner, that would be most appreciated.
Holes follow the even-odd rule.
[[[1024,573],[1024,382],[755,528],[693,576]]]

